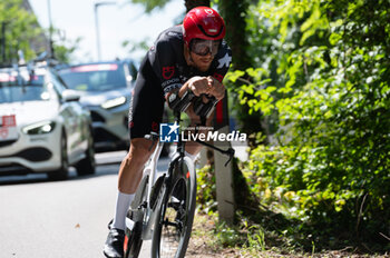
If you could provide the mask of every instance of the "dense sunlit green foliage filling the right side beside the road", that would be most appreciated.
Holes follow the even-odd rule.
[[[269,0],[248,13],[256,64],[228,79],[251,75],[233,90],[277,131],[252,151],[250,186],[328,244],[389,249],[389,1]]]

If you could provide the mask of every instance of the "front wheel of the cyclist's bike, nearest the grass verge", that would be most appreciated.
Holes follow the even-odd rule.
[[[195,172],[189,173],[185,161],[178,163],[181,176],[170,189],[164,189],[163,204],[156,210],[153,258],[183,258],[187,250],[195,212],[196,178]]]

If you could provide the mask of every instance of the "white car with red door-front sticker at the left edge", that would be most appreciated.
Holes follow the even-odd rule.
[[[78,100],[49,67],[0,69],[0,176],[94,173],[90,113]]]

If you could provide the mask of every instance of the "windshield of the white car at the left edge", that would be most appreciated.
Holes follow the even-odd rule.
[[[43,83],[43,76],[33,76],[25,80],[21,77],[0,73],[0,103],[49,99],[50,93]]]

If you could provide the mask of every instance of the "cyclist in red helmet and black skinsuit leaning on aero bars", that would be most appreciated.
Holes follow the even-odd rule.
[[[124,256],[126,214],[154,149],[144,137],[150,131],[158,133],[165,101],[175,109],[188,90],[195,96],[224,98],[222,79],[232,60],[224,36],[222,17],[208,7],[197,7],[185,16],[183,24],[163,31],[144,58],[129,110],[130,148],[119,168],[115,216],[104,248],[106,257]],[[192,121],[199,119],[192,106],[186,112]],[[195,159],[201,148],[187,145],[186,155]]]

